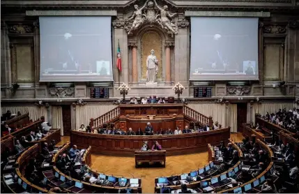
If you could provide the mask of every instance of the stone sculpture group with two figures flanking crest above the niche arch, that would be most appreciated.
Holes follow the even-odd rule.
[[[125,20],[125,31],[128,34],[136,31],[141,24],[146,23],[159,24],[171,37],[178,33],[174,21],[176,13],[170,13],[167,6],[161,7],[155,0],[147,0],[141,8],[137,5],[134,8],[135,11],[132,16]]]

